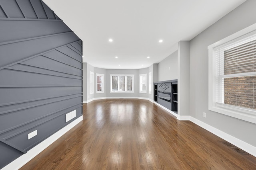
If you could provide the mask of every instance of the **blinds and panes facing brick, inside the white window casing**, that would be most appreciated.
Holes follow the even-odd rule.
[[[217,104],[256,109],[256,35],[214,50]]]

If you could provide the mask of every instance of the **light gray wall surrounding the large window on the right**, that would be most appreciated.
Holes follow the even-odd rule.
[[[190,41],[190,114],[256,147],[256,125],[208,110],[208,45],[256,23],[256,0],[247,0]],[[207,113],[207,118],[203,117]]]

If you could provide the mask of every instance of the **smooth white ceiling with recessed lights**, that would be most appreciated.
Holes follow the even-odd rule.
[[[178,41],[191,40],[246,0],[43,1],[82,39],[83,62],[138,69],[159,63]]]

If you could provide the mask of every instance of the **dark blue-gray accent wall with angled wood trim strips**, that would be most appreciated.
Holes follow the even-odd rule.
[[[41,0],[0,0],[0,37],[3,168],[82,115],[82,41]]]

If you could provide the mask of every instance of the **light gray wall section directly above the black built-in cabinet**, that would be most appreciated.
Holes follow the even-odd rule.
[[[178,79],[178,51],[158,63],[158,81],[174,79]]]

